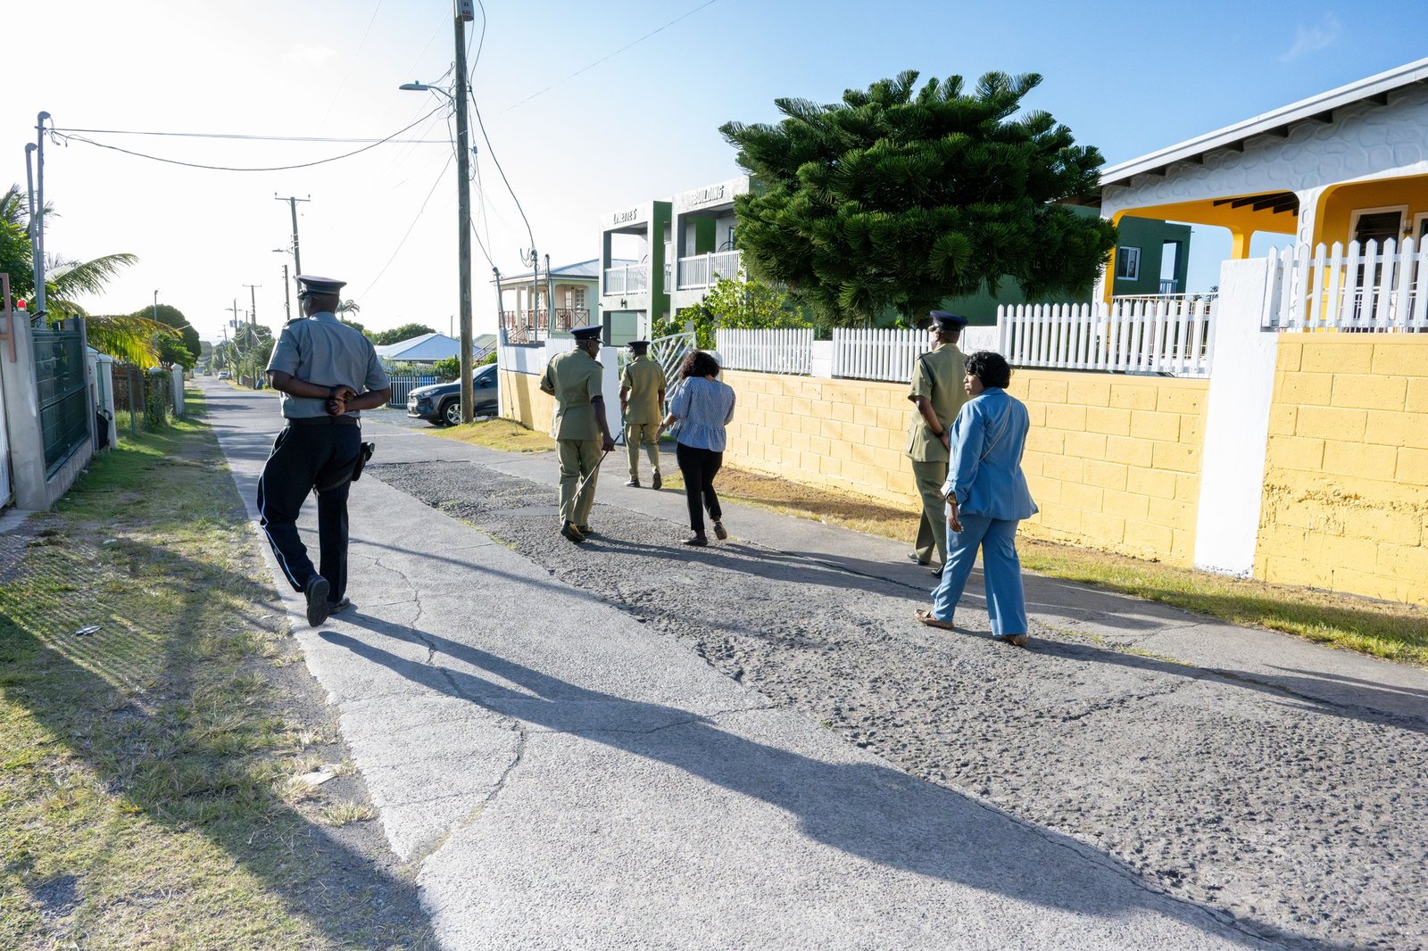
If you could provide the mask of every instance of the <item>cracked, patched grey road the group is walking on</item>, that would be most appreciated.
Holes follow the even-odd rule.
[[[251,498],[274,408],[230,394]],[[574,547],[521,464],[371,430],[456,461],[368,467],[358,607],[297,634],[447,947],[1425,944],[1422,680],[1230,668],[1070,594],[1025,651],[924,628],[924,577],[733,511],[683,548],[673,493]]]

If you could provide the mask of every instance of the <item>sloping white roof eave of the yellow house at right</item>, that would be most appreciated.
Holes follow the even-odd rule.
[[[1135,176],[1168,173],[1175,163],[1204,163],[1211,151],[1244,151],[1250,139],[1257,136],[1278,136],[1287,139],[1289,130],[1302,123],[1332,123],[1334,110],[1358,103],[1387,106],[1389,93],[1417,83],[1428,83],[1428,59],[1399,66],[1398,69],[1357,80],[1348,86],[1332,89],[1318,96],[1282,106],[1272,111],[1225,126],[1212,133],[1190,139],[1177,146],[1148,153],[1130,161],[1111,166],[1101,171],[1101,190],[1108,186],[1128,184]],[[1101,190],[1095,194],[1067,198],[1067,204],[1101,204]]]

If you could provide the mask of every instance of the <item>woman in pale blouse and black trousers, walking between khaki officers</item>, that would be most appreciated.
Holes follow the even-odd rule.
[[[708,510],[714,521],[714,535],[728,538],[724,513],[714,494],[714,474],[724,464],[724,427],[734,418],[734,390],[715,380],[718,361],[703,350],[684,357],[680,376],[684,386],[670,400],[670,414],[660,423],[660,431],[680,423],[674,458],[684,474],[690,528],[694,531],[684,544],[703,547],[708,544],[704,535],[704,510]]]

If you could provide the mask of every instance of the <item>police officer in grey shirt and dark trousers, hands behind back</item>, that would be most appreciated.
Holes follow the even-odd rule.
[[[337,320],[346,281],[298,274],[306,318],[283,328],[267,374],[283,394],[287,426],[258,478],[258,524],[294,591],[307,598],[307,623],[350,605],[347,591],[347,490],[361,454],[361,410],[391,397],[377,353],[356,327]],[[321,570],[297,534],[297,515],[317,490]]]

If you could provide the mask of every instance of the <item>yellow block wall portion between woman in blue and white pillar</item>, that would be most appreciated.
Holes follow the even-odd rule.
[[[1028,535],[1191,564],[1208,383],[1017,370]]]

